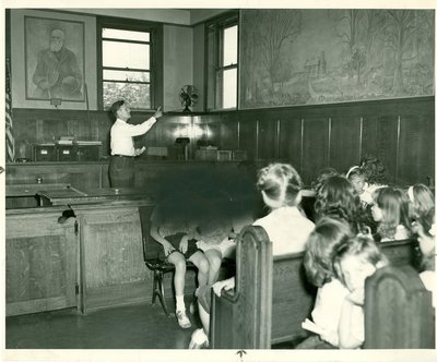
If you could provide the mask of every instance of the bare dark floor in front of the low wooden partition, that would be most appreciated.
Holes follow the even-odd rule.
[[[187,310],[189,301],[186,304]],[[187,349],[191,333],[181,329],[161,305],[150,303],[82,315],[75,309],[7,317],[7,349]]]

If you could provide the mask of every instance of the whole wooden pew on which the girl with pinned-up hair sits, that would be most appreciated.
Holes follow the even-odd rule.
[[[413,240],[381,244],[393,265],[412,264],[415,245]],[[317,289],[306,281],[303,254],[272,257],[272,244],[261,227],[243,230],[236,288],[212,298],[212,348],[269,349],[307,336],[300,324],[312,310]]]

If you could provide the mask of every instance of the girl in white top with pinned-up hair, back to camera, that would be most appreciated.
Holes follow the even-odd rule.
[[[297,171],[287,164],[273,164],[258,173],[258,190],[270,213],[252,225],[264,228],[273,244],[273,255],[297,253],[305,250],[305,243],[314,229],[314,224],[297,208],[302,200],[302,180]],[[220,295],[221,290],[235,288],[235,277],[217,281],[212,286]],[[211,286],[199,289],[199,315],[203,328],[194,330],[190,349],[208,345],[210,328]]]

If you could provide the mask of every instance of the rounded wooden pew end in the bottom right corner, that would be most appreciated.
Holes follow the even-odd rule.
[[[388,266],[366,280],[365,348],[435,348],[432,293],[412,266]]]

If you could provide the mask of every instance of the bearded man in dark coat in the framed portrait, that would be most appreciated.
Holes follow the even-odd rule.
[[[66,45],[66,34],[55,28],[50,34],[49,48],[38,52],[33,75],[38,98],[80,99],[82,73],[75,55]]]

